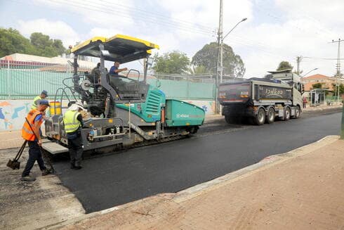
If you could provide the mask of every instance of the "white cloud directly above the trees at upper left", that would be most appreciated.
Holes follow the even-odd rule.
[[[43,18],[28,21],[19,20],[18,25],[18,30],[27,37],[33,32],[41,32],[49,35],[52,39],[61,39],[65,47],[70,44],[74,45],[80,40],[77,32],[70,25],[60,20],[49,21]]]

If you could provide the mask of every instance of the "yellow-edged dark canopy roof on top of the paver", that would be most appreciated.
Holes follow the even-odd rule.
[[[75,46],[72,53],[82,56],[100,57],[99,44],[104,45],[104,50],[109,51],[110,56],[105,56],[105,60],[127,63],[147,57],[151,49],[159,49],[157,44],[150,41],[117,34],[114,37],[93,37]]]

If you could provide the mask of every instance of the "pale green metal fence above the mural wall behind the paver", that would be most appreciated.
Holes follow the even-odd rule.
[[[90,68],[91,70],[91,68]],[[0,65],[0,99],[31,99],[48,91],[53,99],[62,80],[72,77],[68,65]],[[147,83],[159,87],[167,98],[213,101],[216,87],[211,76],[149,75]],[[68,82],[72,86],[72,81]]]

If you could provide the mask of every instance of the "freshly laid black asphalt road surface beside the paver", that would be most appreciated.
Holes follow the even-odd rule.
[[[340,134],[341,113],[317,113],[263,126],[209,122],[199,134],[179,141],[133,148],[83,161],[70,170],[55,162],[62,184],[86,212],[104,210],[157,193],[173,193],[285,153],[327,135]]]

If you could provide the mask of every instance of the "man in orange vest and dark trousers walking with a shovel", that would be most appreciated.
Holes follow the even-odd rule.
[[[34,162],[37,160],[39,169],[42,171],[42,176],[45,176],[51,172],[44,165],[44,161],[41,155],[40,146],[41,141],[41,124],[43,122],[44,111],[48,108],[49,103],[46,100],[40,100],[38,103],[37,109],[30,110],[27,114],[27,120],[25,120],[24,125],[22,126],[22,138],[27,140],[29,144],[29,159],[27,160],[24,171],[22,171],[22,181],[34,181],[34,177],[30,177],[29,173],[34,166]],[[32,132],[32,130],[34,132]],[[35,135],[38,139],[36,139]]]

